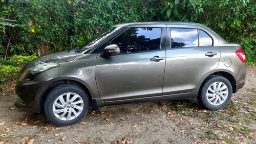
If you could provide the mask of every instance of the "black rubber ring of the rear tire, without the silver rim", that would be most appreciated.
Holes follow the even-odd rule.
[[[228,88],[228,96],[227,96],[226,101],[218,106],[211,105],[208,102],[207,96],[206,96],[209,86],[215,82],[222,82]],[[219,109],[224,108],[229,103],[231,97],[232,97],[232,86],[231,86],[230,82],[222,76],[211,76],[208,79],[206,79],[205,82],[203,83],[202,88],[200,90],[199,97],[198,97],[198,101],[200,104],[202,104],[204,107],[206,107],[209,110],[219,110]]]

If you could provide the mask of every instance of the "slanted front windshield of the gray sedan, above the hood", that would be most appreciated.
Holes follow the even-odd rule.
[[[120,27],[110,27],[108,29],[105,29],[104,31],[102,31],[101,33],[97,34],[89,41],[84,43],[82,46],[78,47],[78,52],[82,54],[90,53],[97,44],[99,44],[104,39],[108,38],[112,33],[114,33],[118,29],[120,29]]]

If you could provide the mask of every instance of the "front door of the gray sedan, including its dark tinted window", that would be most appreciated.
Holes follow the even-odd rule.
[[[164,25],[165,26],[165,25]],[[97,57],[95,76],[102,101],[116,101],[162,95],[165,28],[130,28],[110,44],[120,55]]]

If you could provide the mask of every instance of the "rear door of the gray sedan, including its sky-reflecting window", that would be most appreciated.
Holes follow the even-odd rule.
[[[209,71],[218,67],[220,49],[215,35],[196,28],[167,28],[170,47],[166,50],[163,94],[194,90]],[[208,33],[207,33],[208,32]],[[167,48],[166,48],[167,49]]]

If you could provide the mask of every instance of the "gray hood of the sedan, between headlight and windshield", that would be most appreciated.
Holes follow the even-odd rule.
[[[72,61],[75,59],[77,55],[78,54],[76,53],[70,53],[68,51],[53,53],[53,54],[39,57],[37,59],[32,60],[27,65],[25,65],[23,69],[27,69],[28,67],[41,64],[41,63],[48,63],[48,62],[61,63],[61,62]]]

